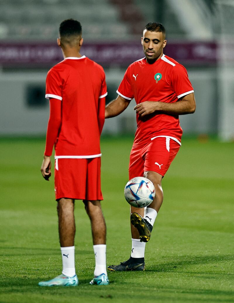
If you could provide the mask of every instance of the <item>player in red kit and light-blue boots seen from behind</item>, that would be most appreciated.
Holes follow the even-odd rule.
[[[105,74],[100,65],[80,55],[83,44],[80,22],[63,21],[57,42],[64,60],[51,68],[46,78],[50,118],[41,173],[49,180],[54,146],[55,198],[63,270],[58,277],[39,282],[39,285],[78,285],[74,261],[75,199],[83,200],[91,221],[96,265],[90,284],[107,285],[106,224],[100,205],[103,200],[100,135],[107,95]]]

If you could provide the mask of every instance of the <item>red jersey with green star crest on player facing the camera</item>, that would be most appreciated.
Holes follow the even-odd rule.
[[[117,93],[133,99],[137,104],[145,101],[174,103],[194,92],[185,67],[163,55],[153,64],[146,58],[133,62],[125,72]],[[153,113],[145,117],[137,114],[137,131],[133,146],[144,145],[156,136],[170,136],[179,142],[182,137],[179,116]]]

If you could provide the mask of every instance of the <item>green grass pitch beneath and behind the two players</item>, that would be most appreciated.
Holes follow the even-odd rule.
[[[129,258],[123,189],[133,138],[102,138],[107,265]],[[0,139],[0,303],[233,302],[234,143],[184,139],[163,179],[164,202],[146,244],[146,271],[110,272],[91,286],[94,254],[83,203],[76,201],[78,287],[39,287],[61,273],[53,176],[44,181],[42,139]]]

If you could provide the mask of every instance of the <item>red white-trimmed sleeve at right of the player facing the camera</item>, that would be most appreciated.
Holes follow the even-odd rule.
[[[176,65],[173,67],[171,87],[178,99],[194,92],[186,68],[183,67],[183,65]]]

